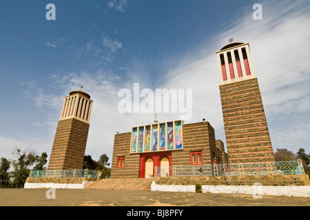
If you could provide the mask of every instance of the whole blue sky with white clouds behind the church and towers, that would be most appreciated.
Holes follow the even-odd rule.
[[[45,6],[54,3],[56,21]],[[262,21],[254,21],[254,3]],[[225,141],[215,52],[250,44],[273,151],[310,151],[308,1],[1,1],[0,157],[50,155],[63,98],[83,85],[94,106],[85,154],[112,158],[114,134],[154,120],[119,113],[121,88],[193,89],[193,117]],[[177,115],[159,114],[161,121]]]

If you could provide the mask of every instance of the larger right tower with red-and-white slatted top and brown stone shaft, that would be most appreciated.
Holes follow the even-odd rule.
[[[249,44],[230,43],[216,56],[229,162],[274,161]]]

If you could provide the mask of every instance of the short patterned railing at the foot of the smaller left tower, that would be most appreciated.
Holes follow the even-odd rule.
[[[29,177],[87,177],[97,178],[98,170],[31,170]]]

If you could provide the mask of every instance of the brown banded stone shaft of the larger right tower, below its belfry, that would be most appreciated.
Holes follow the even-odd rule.
[[[229,162],[274,161],[257,78],[220,86]]]

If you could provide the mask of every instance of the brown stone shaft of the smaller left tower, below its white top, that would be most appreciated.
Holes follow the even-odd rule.
[[[90,124],[70,118],[59,120],[49,170],[81,169]]]

